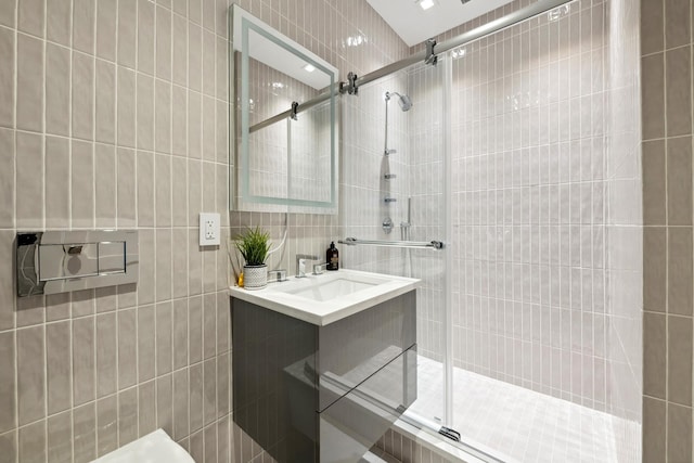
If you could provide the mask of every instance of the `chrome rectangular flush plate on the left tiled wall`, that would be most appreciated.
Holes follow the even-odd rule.
[[[17,297],[138,282],[138,232],[17,233]]]

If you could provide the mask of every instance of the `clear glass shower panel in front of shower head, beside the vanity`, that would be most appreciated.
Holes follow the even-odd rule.
[[[339,210],[345,236],[448,244],[445,66],[416,64],[360,88],[358,98],[343,97]],[[450,252],[448,247],[340,249],[346,268],[422,280],[417,400],[408,413],[424,419],[432,428],[447,423],[446,258]]]

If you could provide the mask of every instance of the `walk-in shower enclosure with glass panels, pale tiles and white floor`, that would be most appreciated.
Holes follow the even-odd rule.
[[[568,2],[343,97],[344,235],[445,244],[343,263],[422,279],[408,416],[490,460],[640,461],[638,18]]]

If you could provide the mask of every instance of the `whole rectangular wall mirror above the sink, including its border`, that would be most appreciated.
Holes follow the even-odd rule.
[[[337,69],[239,5],[230,11],[232,208],[337,214]]]

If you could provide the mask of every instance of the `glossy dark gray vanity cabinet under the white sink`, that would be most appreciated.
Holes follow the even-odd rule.
[[[278,462],[358,462],[416,398],[416,293],[319,326],[231,299],[234,422]]]

